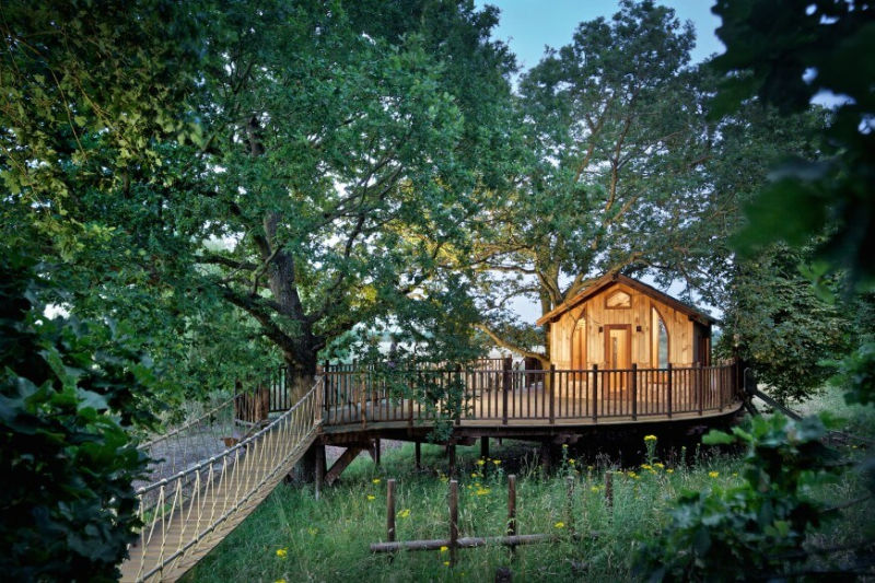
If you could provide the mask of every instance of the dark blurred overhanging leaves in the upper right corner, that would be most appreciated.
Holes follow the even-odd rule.
[[[820,160],[791,160],[774,170],[772,184],[748,210],[749,226],[739,237],[750,253],[785,241],[807,245],[827,234],[819,257],[847,269],[852,284],[875,277],[875,65],[860,62],[875,42],[875,10],[860,2],[720,0],[718,35],[726,45],[716,67],[730,73],[719,96],[725,112],[756,95],[783,113],[808,107],[820,91],[839,104],[822,130]],[[788,212],[790,211],[790,212]]]

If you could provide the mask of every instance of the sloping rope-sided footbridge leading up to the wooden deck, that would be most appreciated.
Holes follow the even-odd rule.
[[[243,522],[313,444],[322,423],[323,383],[318,380],[293,407],[221,453],[168,477],[163,474],[175,468],[176,456],[165,458],[164,469],[153,469],[153,479],[161,478],[137,490],[143,526],[120,565],[121,581],[174,581]],[[205,435],[212,434],[218,442],[223,423],[231,419],[233,424],[233,400],[144,448],[156,455],[180,435],[209,443]]]

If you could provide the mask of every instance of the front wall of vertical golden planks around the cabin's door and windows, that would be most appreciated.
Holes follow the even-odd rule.
[[[631,307],[607,308],[605,299],[617,290],[631,296]],[[668,331],[668,360],[673,366],[690,366],[693,363],[693,322],[686,313],[677,311],[640,291],[616,283],[590,298],[582,305],[562,314],[550,326],[550,360],[560,370],[572,369],[573,334],[581,314],[586,315],[587,369],[593,364],[605,368],[605,326],[628,324],[631,334],[631,360],[639,368],[651,368],[651,307],[656,307]],[[641,331],[637,327],[641,327]],[[603,331],[599,333],[598,328]],[[665,364],[663,364],[665,366]]]

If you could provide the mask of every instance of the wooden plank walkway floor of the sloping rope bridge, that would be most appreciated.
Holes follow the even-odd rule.
[[[275,430],[255,444],[246,455],[235,457],[217,475],[205,479],[191,499],[174,503],[163,524],[156,523],[148,543],[130,547],[130,558],[121,565],[121,581],[176,581],[195,565],[273,491],[315,441],[314,427],[282,459]],[[176,492],[167,492],[168,502]],[[152,528],[147,525],[147,532]],[[162,563],[166,562],[164,567]]]

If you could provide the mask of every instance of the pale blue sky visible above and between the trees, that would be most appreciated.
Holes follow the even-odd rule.
[[[492,37],[506,43],[516,55],[522,70],[538,63],[544,56],[545,46],[560,48],[571,43],[578,24],[604,16],[610,19],[619,10],[618,1],[602,0],[477,0],[478,8],[492,4],[501,10],[499,25]],[[711,13],[714,2],[710,0],[657,0],[657,4],[675,9],[681,22],[690,21],[696,28],[696,47],[691,57],[701,62],[711,55],[723,53],[725,47],[714,34],[720,19]],[[653,284],[650,278],[643,278]],[[680,282],[669,288],[667,293],[678,295],[684,287]],[[510,307],[522,320],[534,323],[540,317],[540,305],[534,301],[518,299]],[[699,307],[720,317],[722,312],[709,305]]]

